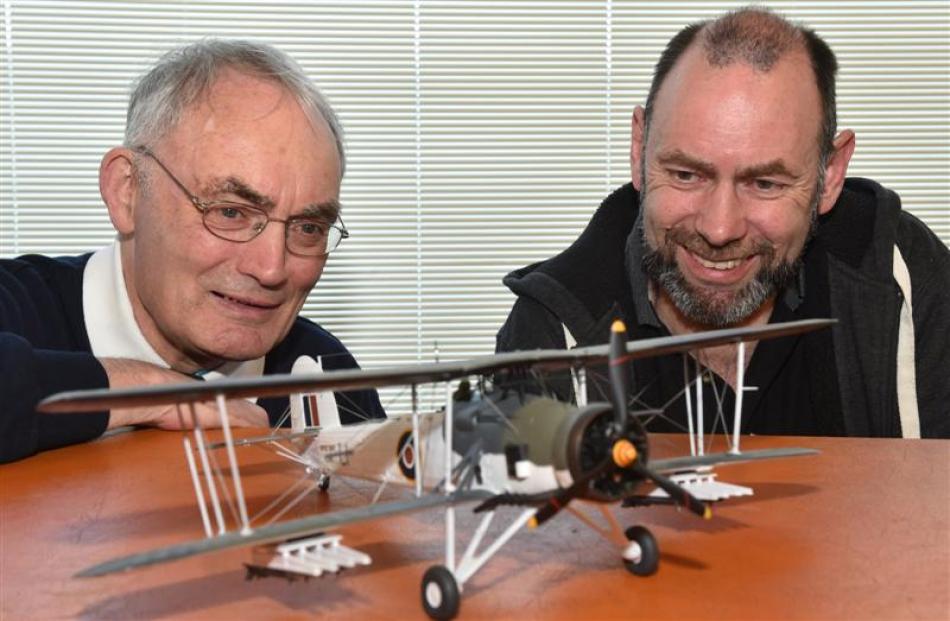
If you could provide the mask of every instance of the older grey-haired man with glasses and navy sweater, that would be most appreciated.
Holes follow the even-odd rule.
[[[0,461],[116,426],[181,424],[174,407],[35,412],[60,390],[289,372],[301,356],[355,367],[297,315],[347,236],[343,171],[336,115],[284,54],[213,40],[166,54],[132,93],[124,146],[102,159],[117,243],[0,262]],[[339,400],[345,422],[383,415],[373,391]],[[266,426],[286,405],[231,411]],[[215,424],[212,408],[198,414]]]

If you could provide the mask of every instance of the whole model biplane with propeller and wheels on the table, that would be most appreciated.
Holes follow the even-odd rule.
[[[183,406],[183,415],[194,417],[195,403],[215,401],[221,416],[222,442],[207,441],[197,425],[194,446],[188,437],[184,439],[206,537],[107,561],[81,571],[79,576],[100,576],[252,544],[258,545],[253,561],[248,564],[249,576],[319,576],[342,567],[370,563],[366,554],[344,546],[340,535],[327,535],[328,529],[444,507],[445,561],[425,572],[422,605],[434,619],[451,619],[458,613],[465,583],[523,526],[541,525],[566,508],[615,543],[630,572],[649,575],[656,571],[659,561],[656,540],[642,526],[621,529],[611,505],[671,504],[708,519],[710,502],[752,493],[748,488],[717,481],[711,471],[713,465],[815,453],[799,448],[740,451],[742,395],[752,389],[744,386],[742,379],[745,344],[801,334],[832,323],[833,320],[803,320],[626,343],[626,329],[617,321],[611,328],[608,345],[511,352],[461,362],[368,371],[323,373],[304,369],[304,373],[299,373],[300,369],[295,368],[289,375],[255,379],[76,391],[54,395],[43,401],[39,409],[67,413],[179,404]],[[727,436],[729,449],[704,454],[701,395],[697,395],[695,408],[690,405],[691,388],[699,393],[703,383],[703,371],[697,366],[692,381],[685,381],[688,376],[684,378],[691,454],[651,460],[648,436],[640,421],[643,412],[631,410],[627,365],[634,358],[687,354],[722,344],[737,345],[735,413],[732,437]],[[586,370],[604,362],[608,368],[609,400],[587,403]],[[559,401],[544,390],[534,394],[512,389],[497,379],[493,387],[486,388],[492,376],[514,373],[539,378],[540,374],[567,371],[575,381],[576,404]],[[458,391],[453,398],[450,381],[467,381],[471,377],[478,378],[482,391],[472,391],[465,400]],[[440,382],[446,382],[444,409],[419,413],[417,386]],[[393,385],[411,387],[411,414],[347,426],[339,424],[332,391]],[[291,395],[291,429],[260,438],[233,440],[226,399],[276,395]],[[313,415],[319,417],[321,424],[308,420]],[[197,417],[194,420],[197,422]],[[251,517],[235,450],[248,444],[273,446],[279,455],[302,465],[305,471],[296,484]],[[226,453],[230,481],[217,465],[217,451]],[[388,482],[403,483],[413,487],[415,495],[377,502],[377,493],[366,506],[280,520],[308,493],[316,488],[326,490],[331,474],[377,480],[381,482],[380,492]],[[231,505],[235,522],[232,530],[228,530],[222,511],[222,498]],[[571,502],[575,499],[590,501],[585,504],[599,509],[605,525],[598,524],[588,511]],[[473,504],[474,512],[482,517],[457,559],[455,507],[460,504]],[[496,510],[503,506],[518,507],[520,511],[507,526],[495,529],[500,532],[491,543],[482,546]]]

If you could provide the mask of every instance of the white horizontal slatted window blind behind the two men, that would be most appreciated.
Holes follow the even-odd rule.
[[[2,0],[0,256],[111,241],[97,171],[132,79],[178,43],[255,39],[303,65],[347,132],[353,237],[304,314],[365,367],[489,353],[513,302],[502,276],[565,248],[629,179],[630,115],[663,45],[737,6]],[[950,5],[770,6],[838,54],[850,174],[950,243]]]

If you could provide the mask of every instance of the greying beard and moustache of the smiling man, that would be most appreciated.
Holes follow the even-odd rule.
[[[666,239],[659,248],[651,248],[641,226],[640,244],[643,249],[642,267],[644,273],[670,299],[673,305],[689,321],[710,328],[725,328],[742,323],[772,296],[795,281],[802,267],[808,240],[815,232],[818,214],[816,192],[811,207],[811,225],[802,252],[793,260],[775,262],[775,247],[768,242],[759,242],[753,252],[762,257],[763,266],[752,280],[738,291],[713,291],[696,287],[686,280],[676,263],[676,248],[683,246],[698,251],[705,257],[715,259],[730,256],[735,246],[710,246],[698,233],[674,228],[667,231]],[[644,195],[641,194],[640,209],[643,210]],[[734,255],[734,253],[732,253]]]

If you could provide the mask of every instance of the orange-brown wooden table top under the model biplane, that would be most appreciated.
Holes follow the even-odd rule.
[[[247,550],[72,578],[202,536],[181,439],[137,431],[0,466],[0,619],[424,617],[420,579],[442,562],[439,511],[344,528],[373,564],[309,581],[247,582]],[[656,437],[654,452],[681,441]],[[461,618],[950,618],[950,441],[744,441],[792,445],[822,452],[721,468],[720,479],[756,495],[720,503],[711,521],[669,507],[616,510],[656,535],[656,575],[628,574],[614,548],[565,514],[503,548],[466,585]],[[241,455],[251,506],[300,475],[264,450]],[[355,506],[373,491],[334,480],[301,509]],[[469,512],[460,515],[470,533]]]

